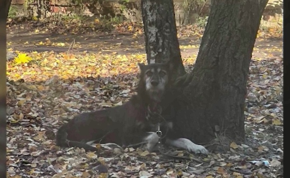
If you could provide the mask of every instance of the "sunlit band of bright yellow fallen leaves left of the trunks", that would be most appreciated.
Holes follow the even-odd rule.
[[[74,76],[109,77],[137,72],[136,58],[139,62],[145,62],[144,54],[86,53],[76,57],[68,53],[54,55],[53,52],[45,52],[31,53],[31,55],[34,57],[34,63],[31,64],[31,67],[13,66],[13,61],[8,62],[7,71],[11,79],[19,80],[23,78],[26,81],[44,81],[56,75],[62,79],[74,78]],[[127,67],[128,65],[129,67]],[[17,73],[17,75],[12,76],[11,73]]]

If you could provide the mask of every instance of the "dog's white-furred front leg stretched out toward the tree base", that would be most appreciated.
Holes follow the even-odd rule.
[[[189,152],[201,153],[204,155],[208,154],[208,151],[203,146],[196,145],[188,139],[184,139],[184,138],[180,138],[176,140],[166,139],[165,143],[173,147],[185,149]]]

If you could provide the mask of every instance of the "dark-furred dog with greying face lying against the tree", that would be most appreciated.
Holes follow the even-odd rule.
[[[174,127],[176,118],[167,117],[162,111],[170,111],[166,98],[170,98],[172,87],[170,64],[139,64],[140,79],[137,95],[122,106],[94,112],[82,113],[61,126],[56,134],[56,144],[60,147],[79,147],[87,151],[97,151],[87,143],[115,143],[120,146],[144,143],[152,151],[159,141],[156,134],[157,123],[165,135],[165,144],[207,154],[208,151],[188,139],[180,138]],[[157,113],[157,115],[156,115]],[[155,116],[163,117],[155,117]],[[170,115],[170,114],[169,114]],[[160,119],[162,118],[162,119]],[[169,120],[167,120],[167,118]],[[166,129],[168,129],[166,132]]]

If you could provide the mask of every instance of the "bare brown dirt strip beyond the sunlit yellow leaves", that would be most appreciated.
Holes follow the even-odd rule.
[[[71,45],[67,46],[48,46],[48,45],[36,45],[40,42],[46,41],[45,39],[50,39],[56,43],[62,43],[66,41],[69,44],[79,43],[81,46],[74,47],[72,49]],[[180,45],[199,45],[200,38],[196,37],[181,37],[178,39]],[[34,34],[33,32],[28,33],[8,33],[7,41],[12,42],[8,47],[12,47],[14,50],[18,51],[55,51],[55,52],[67,52],[71,50],[72,52],[102,52],[112,53],[117,52],[117,54],[132,54],[132,53],[145,53],[145,42],[144,36],[139,35],[134,38],[133,34],[86,34],[86,35],[56,35],[56,34]],[[24,44],[28,42],[28,44]],[[120,44],[121,43],[121,44]],[[117,45],[116,44],[120,44]],[[134,47],[132,47],[132,44]],[[282,39],[270,38],[270,39],[257,39],[255,42],[255,47],[259,50],[253,51],[253,57],[265,57],[262,51],[267,48],[276,46],[282,48]],[[188,57],[193,54],[198,54],[199,48],[187,48],[181,49],[182,57]],[[279,57],[281,52],[273,51],[273,57]]]

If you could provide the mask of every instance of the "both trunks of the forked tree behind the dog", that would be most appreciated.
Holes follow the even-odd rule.
[[[246,81],[267,1],[211,0],[199,54],[190,74],[193,78],[173,103],[179,121],[176,127],[181,128],[185,138],[196,143],[216,137],[244,141]],[[172,0],[141,2],[148,63],[169,59],[175,63],[173,72],[184,74]]]

